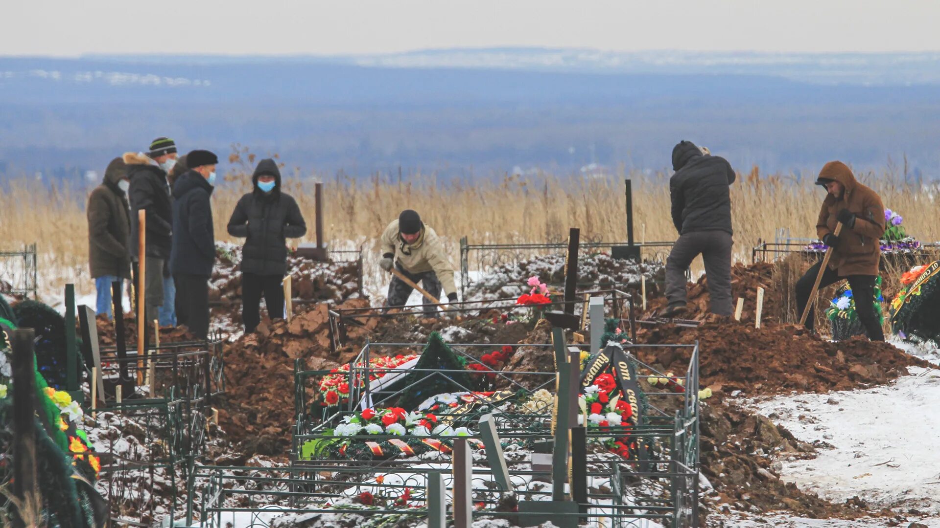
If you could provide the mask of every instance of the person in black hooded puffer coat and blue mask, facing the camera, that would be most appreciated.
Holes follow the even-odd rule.
[[[251,193],[242,196],[228,221],[228,234],[246,239],[242,251],[242,320],[254,332],[261,295],[270,318],[284,317],[281,281],[287,272],[287,241],[306,233],[297,202],[281,191],[281,172],[274,160],[261,160],[252,177]]]

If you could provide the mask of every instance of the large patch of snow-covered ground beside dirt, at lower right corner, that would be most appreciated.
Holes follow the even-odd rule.
[[[817,458],[784,460],[781,476],[833,502],[857,496],[896,511],[915,509],[930,514],[922,522],[940,526],[940,371],[910,371],[869,390],[751,400],[757,412],[821,446]],[[866,525],[859,522],[846,526]]]

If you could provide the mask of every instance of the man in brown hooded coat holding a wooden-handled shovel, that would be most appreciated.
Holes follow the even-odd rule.
[[[874,297],[875,279],[878,277],[880,241],[885,234],[885,206],[878,194],[855,180],[852,170],[845,163],[826,163],[816,183],[825,187],[829,193],[823,200],[816,232],[823,243],[833,248],[820,287],[848,279],[855,299],[855,313],[862,321],[866,334],[872,341],[884,341],[885,334],[870,300]],[[842,231],[837,237],[835,231],[839,222],[842,223]],[[803,313],[807,305],[822,265],[822,261],[816,263],[796,283],[799,314]],[[807,318],[807,328],[813,329],[812,307]]]

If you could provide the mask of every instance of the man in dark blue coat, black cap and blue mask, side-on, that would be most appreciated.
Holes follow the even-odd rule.
[[[189,171],[173,184],[173,256],[177,322],[200,339],[209,335],[209,278],[215,262],[210,196],[219,159],[209,150],[186,154]]]

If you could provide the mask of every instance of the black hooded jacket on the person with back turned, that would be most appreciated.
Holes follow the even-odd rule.
[[[679,234],[731,230],[731,191],[734,170],[720,156],[702,154],[694,143],[683,141],[672,149],[669,179],[672,224]]]

